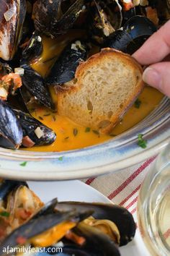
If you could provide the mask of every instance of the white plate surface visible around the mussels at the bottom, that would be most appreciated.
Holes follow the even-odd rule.
[[[48,202],[54,197],[58,197],[58,201],[81,201],[81,202],[109,202],[96,189],[79,181],[71,182],[28,182],[30,188],[41,198],[43,202]],[[135,220],[136,221],[136,220]],[[133,242],[125,247],[120,248],[122,256],[149,256],[140,233],[137,229]]]

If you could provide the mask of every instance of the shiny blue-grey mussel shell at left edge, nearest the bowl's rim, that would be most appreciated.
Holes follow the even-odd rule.
[[[22,127],[17,117],[4,101],[0,100],[0,146],[17,149],[22,144]]]

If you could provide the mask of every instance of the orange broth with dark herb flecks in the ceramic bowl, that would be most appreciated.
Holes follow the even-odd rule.
[[[79,35],[82,35],[82,31],[79,31]],[[68,44],[68,41],[73,40],[75,36],[77,37],[77,32],[76,34],[70,32],[67,35],[61,35],[57,39],[43,37],[42,56],[32,64],[32,68],[39,72],[42,77],[45,77],[54,61],[61,54],[63,48]],[[67,38],[69,38],[69,40]],[[97,51],[98,49],[94,48],[91,54]],[[57,95],[55,95],[54,89],[50,88],[50,92],[53,102],[55,106],[57,106]],[[139,108],[133,105],[125,114],[120,124],[117,124],[112,130],[111,135],[99,135],[97,131],[89,127],[81,127],[66,116],[59,116],[57,111],[51,111],[43,106],[38,106],[31,111],[32,116],[53,129],[57,135],[57,139],[51,145],[27,148],[24,150],[55,152],[84,148],[105,142],[112,137],[120,135],[135,124],[138,124],[139,121],[143,120],[158,106],[158,103],[160,103],[163,97],[164,95],[158,92],[158,90],[146,86],[143,93],[141,93],[138,98],[141,101]]]

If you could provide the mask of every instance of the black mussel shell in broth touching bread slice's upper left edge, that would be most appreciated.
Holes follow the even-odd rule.
[[[76,68],[81,61],[86,60],[88,52],[88,46],[81,40],[69,43],[50,70],[50,74],[45,80],[47,85],[62,85],[71,81],[74,78]]]

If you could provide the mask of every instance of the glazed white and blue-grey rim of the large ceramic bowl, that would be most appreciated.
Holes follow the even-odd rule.
[[[147,148],[138,146],[138,134]],[[170,100],[159,106],[132,129],[108,142],[62,153],[22,150],[0,152],[0,176],[9,179],[66,180],[107,174],[128,168],[160,152],[170,137]]]

